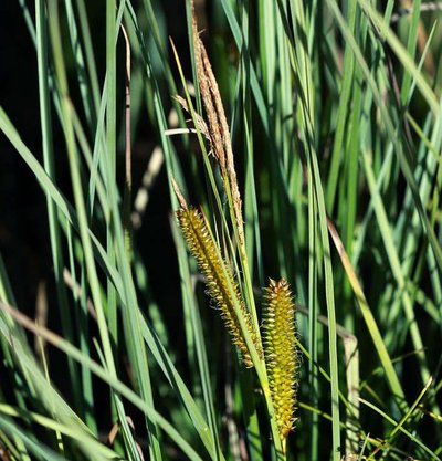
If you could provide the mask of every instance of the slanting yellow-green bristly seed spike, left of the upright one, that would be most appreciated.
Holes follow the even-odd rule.
[[[253,367],[253,362],[234,311],[235,301],[240,306],[241,316],[261,357],[263,352],[230,265],[221,259],[208,223],[200,211],[196,208],[181,209],[177,211],[177,218],[186,243],[197,260],[199,270],[204,275],[208,293],[221,311],[221,317],[232,337],[232,343],[240,348],[244,365],[248,368]],[[230,287],[233,287],[233,293]]]

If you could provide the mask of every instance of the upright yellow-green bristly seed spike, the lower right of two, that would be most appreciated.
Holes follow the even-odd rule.
[[[269,386],[281,440],[294,427],[297,388],[295,304],[285,279],[270,280],[264,294],[263,340]]]

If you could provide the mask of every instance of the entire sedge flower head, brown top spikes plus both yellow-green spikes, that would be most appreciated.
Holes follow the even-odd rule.
[[[234,235],[239,256],[243,262],[246,262],[242,201],[234,168],[229,126],[217,80],[198,32],[193,1],[191,1],[191,7],[194,61],[207,121],[202,115],[196,113],[192,114],[192,118],[209,142],[210,150],[219,165],[223,187],[227,196],[230,197],[231,224],[235,229]],[[192,113],[192,111],[189,111],[190,99],[188,102],[177,96],[177,101],[185,111]],[[269,287],[265,290],[265,314],[262,327],[263,350],[256,318],[253,317],[254,321],[252,321],[252,316],[246,308],[240,285],[229,264],[229,256],[224,258],[222,255],[206,217],[198,209],[187,206],[173,179],[172,187],[181,206],[181,209],[177,211],[179,227],[191,254],[198,262],[200,272],[206,279],[207,292],[219,308],[232,342],[240,349],[246,367],[254,365],[249,346],[252,347],[253,344],[253,349],[257,353],[259,360],[255,362],[257,375],[269,404],[267,408],[271,409],[273,406],[274,409],[274,415],[271,418],[272,432],[275,433],[277,430],[285,453],[286,439],[295,422],[297,383],[295,305],[290,285],[284,279],[278,282],[271,280]],[[246,264],[243,264],[244,266]],[[245,279],[244,282],[248,286],[251,283]],[[254,305],[251,308],[254,312]],[[254,354],[253,357],[255,360],[256,356]],[[266,374],[263,368],[264,365]],[[275,437],[277,440],[276,433]]]

